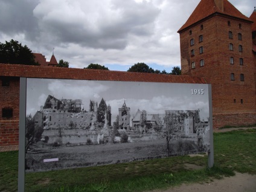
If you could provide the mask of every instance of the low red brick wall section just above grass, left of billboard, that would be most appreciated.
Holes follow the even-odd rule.
[[[19,121],[0,121],[0,146],[19,144]]]

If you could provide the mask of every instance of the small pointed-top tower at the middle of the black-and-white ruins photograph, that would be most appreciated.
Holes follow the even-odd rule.
[[[130,130],[130,107],[126,106],[126,101],[119,110],[119,126],[120,129]]]

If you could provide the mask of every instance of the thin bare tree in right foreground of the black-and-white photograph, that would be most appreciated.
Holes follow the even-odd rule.
[[[166,138],[166,146],[167,146],[167,155],[170,156],[170,141],[174,135],[174,132],[178,129],[178,121],[174,120],[170,114],[165,114],[164,117],[165,123],[165,138]]]

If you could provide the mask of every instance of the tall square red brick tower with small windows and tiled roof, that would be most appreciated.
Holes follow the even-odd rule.
[[[212,85],[213,113],[255,112],[252,21],[227,0],[201,0],[179,29],[182,75]]]

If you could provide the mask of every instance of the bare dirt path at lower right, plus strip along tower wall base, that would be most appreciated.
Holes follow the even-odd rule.
[[[237,129],[256,129],[251,128],[231,128],[216,129],[214,132],[228,132]],[[247,173],[235,173],[235,176],[223,179],[214,179],[213,182],[203,184],[182,184],[179,187],[169,188],[168,190],[155,190],[152,192],[256,192],[256,175]]]

